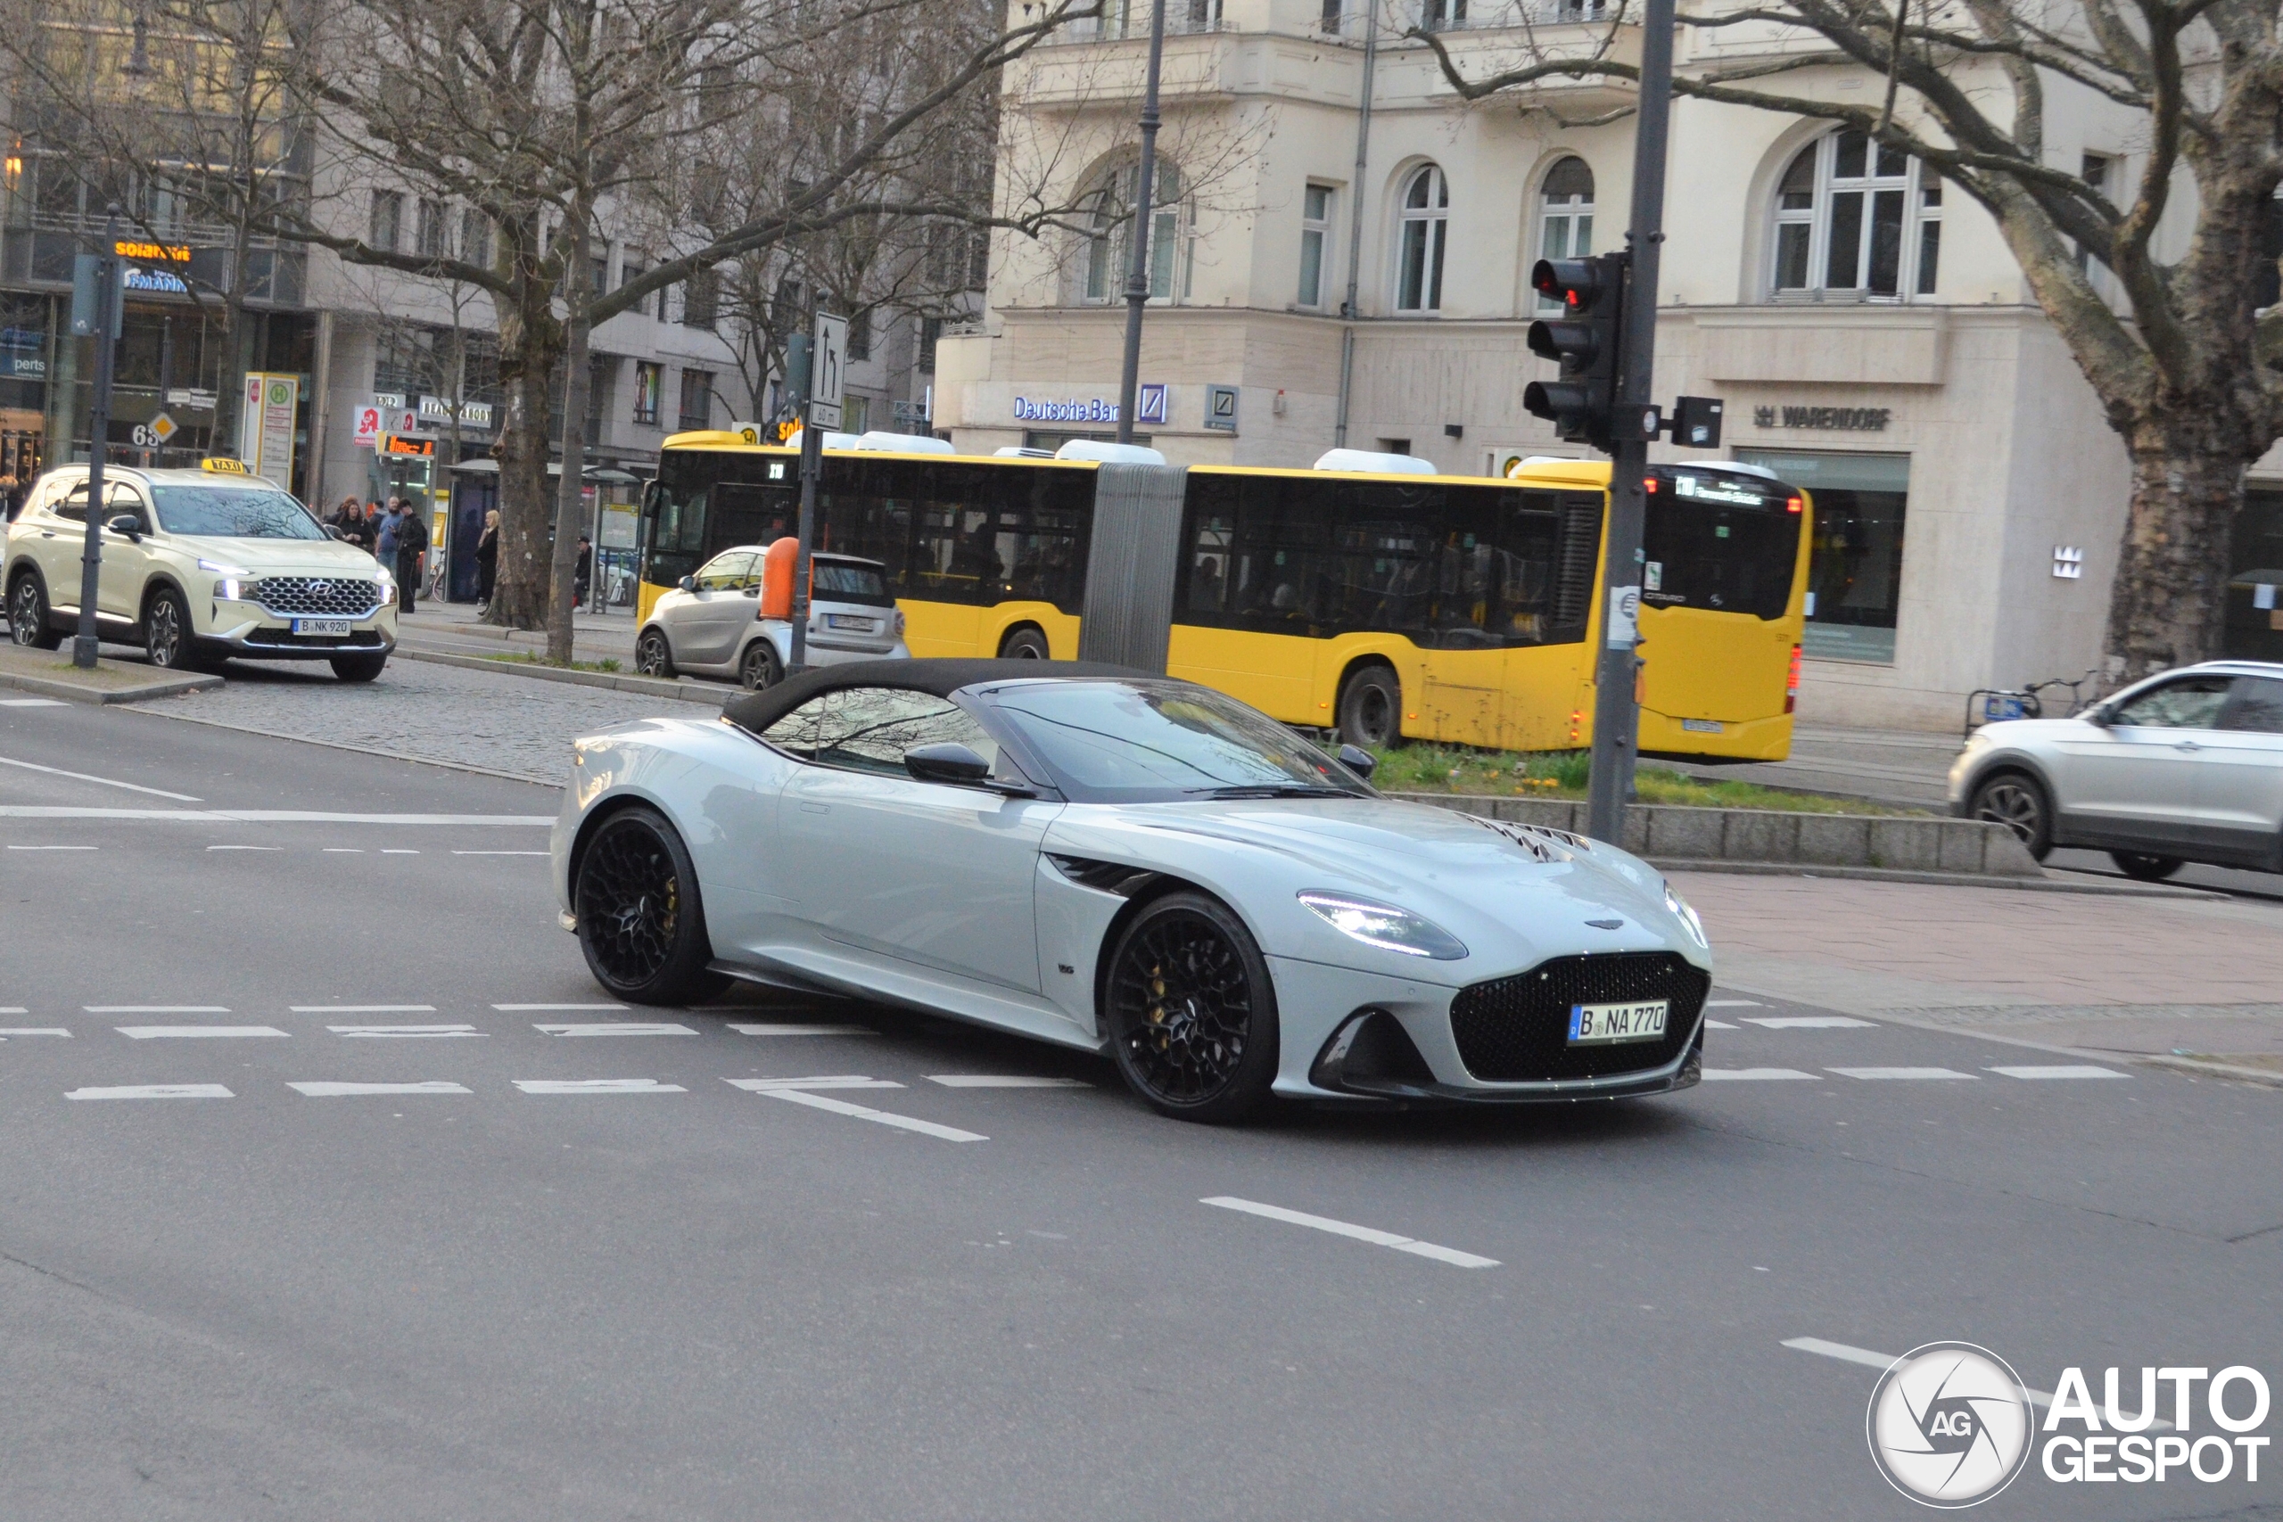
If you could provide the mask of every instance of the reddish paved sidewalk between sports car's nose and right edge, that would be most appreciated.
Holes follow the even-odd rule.
[[[2283,904],[1673,872],[1724,988],[2116,1054],[2283,1068]]]

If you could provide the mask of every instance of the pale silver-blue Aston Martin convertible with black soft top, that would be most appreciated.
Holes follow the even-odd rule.
[[[1194,1120],[1696,1082],[1712,956],[1655,869],[1370,769],[1116,666],[829,666],[580,739],[555,892],[616,997],[904,1004]]]

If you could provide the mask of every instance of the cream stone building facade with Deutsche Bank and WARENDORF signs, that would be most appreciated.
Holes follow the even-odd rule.
[[[1632,121],[1568,123],[1619,112],[1628,87],[1550,80],[1468,105],[1395,34],[1436,30],[1479,78],[1525,48],[1591,48],[1600,7],[1196,0],[1173,18],[1137,436],[1189,463],[1306,465],[1347,443],[1466,475],[1584,454],[1523,411],[1550,377],[1525,347],[1548,313],[1530,267],[1623,246]],[[1100,230],[995,242],[986,315],[941,351],[936,422],[963,450],[1116,427],[1114,208],[1132,199],[1146,9],[1132,37],[1121,23],[1007,80],[1002,199],[1096,187],[1112,212]],[[1619,55],[1632,46],[1621,32]],[[1683,27],[1678,64],[1788,46]],[[1833,100],[1881,84],[1785,73],[1788,91]],[[2137,128],[2048,87],[2057,162],[2123,187]],[[1041,162],[1050,189],[1016,183]],[[1701,100],[1673,105],[1664,224],[1657,397],[1724,397],[1721,454],[1815,493],[1804,719],[1943,728],[1977,687],[2098,664],[2125,454],[1995,224],[1858,132]],[[2185,235],[2178,217],[2164,235]],[[2237,564],[2283,566],[2283,452],[2253,472]],[[2258,593],[2230,596],[2249,609]],[[2260,621],[2244,639],[2272,634],[2283,655]]]

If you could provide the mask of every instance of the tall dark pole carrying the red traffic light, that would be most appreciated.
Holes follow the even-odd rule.
[[[1651,365],[1657,358],[1657,251],[1664,244],[1664,137],[1673,107],[1673,0],[1646,0],[1641,16],[1641,98],[1632,135],[1632,226],[1625,249],[1625,326],[1619,349],[1616,418],[1610,452],[1610,545],[1603,586],[1600,664],[1594,689],[1594,774],[1587,785],[1587,835],[1621,847],[1625,801],[1632,799],[1632,762],[1639,707],[1632,701],[1635,618],[1641,607],[1641,520],[1648,493],[1648,438],[1639,420],[1648,413]],[[1625,422],[1632,427],[1625,427]]]

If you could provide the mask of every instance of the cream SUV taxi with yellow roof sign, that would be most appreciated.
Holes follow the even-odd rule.
[[[7,529],[0,584],[18,646],[53,650],[78,630],[84,543],[87,465],[62,465]],[[324,659],[370,682],[397,648],[395,577],[237,461],[105,465],[96,586],[96,634],[139,643],[153,666]]]

